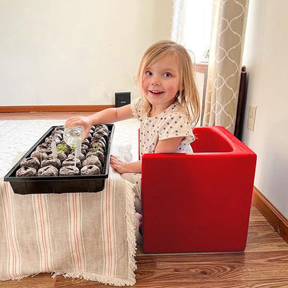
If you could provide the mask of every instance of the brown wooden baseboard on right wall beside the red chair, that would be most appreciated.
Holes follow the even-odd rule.
[[[271,204],[271,202],[254,187],[252,202],[256,208],[262,213],[273,228],[288,243],[288,220],[280,213],[280,211]]]

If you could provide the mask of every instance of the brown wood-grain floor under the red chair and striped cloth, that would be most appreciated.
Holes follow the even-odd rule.
[[[0,114],[0,120],[63,119],[67,115],[71,114]],[[247,246],[243,253],[145,255],[140,241],[136,261],[134,287],[288,288],[288,244],[273,230],[255,206],[251,208]],[[62,276],[51,278],[50,274],[42,273],[20,281],[0,282],[0,287],[109,286]]]

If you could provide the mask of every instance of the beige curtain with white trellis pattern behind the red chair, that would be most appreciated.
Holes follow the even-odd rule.
[[[249,0],[214,0],[204,126],[234,132]]]

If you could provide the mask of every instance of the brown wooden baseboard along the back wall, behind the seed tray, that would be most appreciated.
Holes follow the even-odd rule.
[[[0,106],[0,113],[101,111],[115,105]]]

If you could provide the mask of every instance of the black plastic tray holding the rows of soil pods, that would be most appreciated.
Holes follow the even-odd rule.
[[[10,182],[14,192],[21,195],[102,191],[105,188],[105,179],[109,175],[110,147],[114,135],[114,125],[107,124],[106,126],[109,129],[109,137],[102,174],[91,176],[17,177],[16,171],[20,168],[21,161],[29,157],[38,145],[44,143],[45,138],[50,136],[55,127],[57,127],[52,126],[6,174],[4,181]]]

